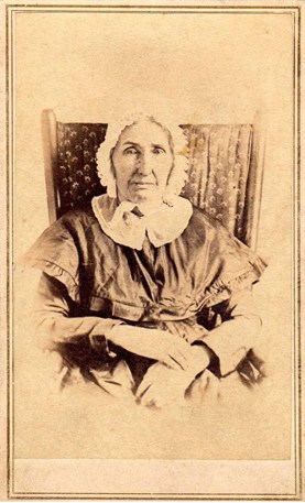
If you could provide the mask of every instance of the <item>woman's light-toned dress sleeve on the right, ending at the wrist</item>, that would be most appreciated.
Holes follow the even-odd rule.
[[[221,376],[238,368],[260,337],[261,318],[255,313],[250,289],[231,296],[227,303],[226,317],[226,321],[220,321],[195,342],[203,342],[217,357]]]

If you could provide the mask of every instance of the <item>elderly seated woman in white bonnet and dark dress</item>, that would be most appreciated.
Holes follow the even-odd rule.
[[[64,215],[32,247],[42,270],[41,345],[61,354],[62,385],[162,407],[251,385],[261,321],[250,302],[264,263],[178,194],[179,128],[142,116],[108,128],[98,152],[107,194]]]

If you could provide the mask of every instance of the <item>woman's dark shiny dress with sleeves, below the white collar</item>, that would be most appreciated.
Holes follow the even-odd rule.
[[[146,239],[139,251],[109,238],[87,206],[53,223],[25,262],[43,272],[37,327],[42,346],[63,358],[65,383],[77,369],[105,387],[105,372],[109,380],[123,361],[137,387],[153,361],[108,343],[108,330],[124,322],[206,345],[216,379],[237,371],[251,385],[261,376],[249,293],[265,264],[199,209],[174,241],[155,248]]]

